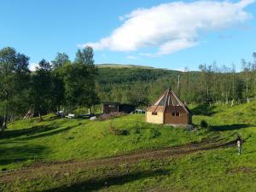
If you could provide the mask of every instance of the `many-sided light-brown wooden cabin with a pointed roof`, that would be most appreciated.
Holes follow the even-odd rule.
[[[192,115],[175,92],[168,89],[147,109],[148,123],[191,125]]]

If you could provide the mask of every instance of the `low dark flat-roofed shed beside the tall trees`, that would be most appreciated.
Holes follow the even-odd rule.
[[[103,104],[103,113],[131,113],[136,109],[135,105],[131,104],[121,104],[119,102],[104,102]]]

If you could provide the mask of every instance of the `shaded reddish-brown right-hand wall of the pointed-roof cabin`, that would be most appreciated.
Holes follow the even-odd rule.
[[[191,124],[188,113],[180,113],[180,116],[172,116],[172,113],[165,113],[165,124]]]

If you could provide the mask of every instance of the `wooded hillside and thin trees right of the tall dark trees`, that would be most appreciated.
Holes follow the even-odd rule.
[[[241,70],[237,72],[236,67]],[[124,71],[129,78],[124,78]],[[232,64],[231,67],[218,67],[214,62],[199,65],[199,71],[189,71],[188,67],[183,72],[102,68],[99,73],[96,89],[103,101],[128,102],[147,107],[168,88],[175,90],[187,104],[221,103],[233,106],[250,102],[256,97],[256,53],[253,54],[253,61],[242,59],[240,64]]]

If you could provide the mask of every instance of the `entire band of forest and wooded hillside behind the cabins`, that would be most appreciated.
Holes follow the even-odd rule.
[[[175,67],[175,64],[172,64]],[[218,67],[199,64],[199,71],[183,72],[151,67],[96,65],[91,47],[78,49],[74,61],[57,53],[42,59],[34,72],[29,57],[14,48],[0,50],[0,121],[20,119],[28,110],[41,117],[65,108],[96,108],[101,102],[123,102],[147,108],[167,88],[186,104],[250,102],[256,96],[256,53],[252,61]]]

